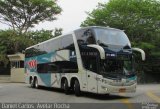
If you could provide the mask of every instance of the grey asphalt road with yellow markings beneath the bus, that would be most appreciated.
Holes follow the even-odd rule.
[[[97,103],[103,103],[104,106],[100,108],[109,104],[113,109],[115,109],[115,104],[125,106],[127,109],[135,109],[135,106],[138,105],[142,109],[143,106],[152,106],[154,104],[156,106],[158,105],[155,109],[159,109],[160,85],[138,85],[136,93],[119,93],[110,94],[109,96],[82,93],[82,96],[76,97],[73,93],[65,95],[63,91],[59,89],[45,87],[33,89],[30,88],[29,85],[23,83],[0,83],[0,103],[87,103],[85,105],[91,106],[90,104],[93,104],[92,108],[95,107],[94,105],[98,107],[102,106]],[[83,106],[85,105],[81,105],[79,109],[84,109]]]

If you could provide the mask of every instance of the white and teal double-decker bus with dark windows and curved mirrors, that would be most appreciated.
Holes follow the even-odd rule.
[[[133,51],[123,30],[85,27],[25,50],[26,82],[31,87],[62,88],[79,96],[81,91],[109,94],[135,92],[137,76]]]

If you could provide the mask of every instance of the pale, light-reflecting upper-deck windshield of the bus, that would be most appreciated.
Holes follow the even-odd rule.
[[[127,35],[122,30],[95,28],[94,33],[99,45],[131,46]]]

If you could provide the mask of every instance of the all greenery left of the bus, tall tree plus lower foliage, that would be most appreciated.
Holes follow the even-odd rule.
[[[0,72],[9,67],[8,54],[61,35],[61,28],[31,31],[40,22],[55,21],[61,11],[56,0],[0,0],[0,22],[9,26],[0,30]]]

